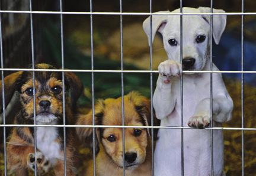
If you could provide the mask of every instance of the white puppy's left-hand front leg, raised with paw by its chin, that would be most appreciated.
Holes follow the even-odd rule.
[[[153,94],[153,107],[156,118],[166,118],[174,109],[176,97],[172,93],[172,86],[181,74],[181,64],[174,60],[166,60],[158,66],[159,76]]]

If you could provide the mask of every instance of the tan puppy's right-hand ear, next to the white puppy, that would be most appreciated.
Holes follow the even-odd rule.
[[[130,101],[135,105],[136,112],[140,115],[143,125],[151,125],[151,101],[145,96],[140,95],[137,92],[130,92],[128,94]],[[147,129],[148,135],[150,135],[149,129]]]

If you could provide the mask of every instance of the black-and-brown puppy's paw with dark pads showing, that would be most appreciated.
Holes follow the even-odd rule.
[[[35,169],[35,160],[37,160],[37,172],[48,172],[50,168],[50,162],[47,160],[41,152],[37,151],[36,158],[34,153],[28,154],[27,165],[28,168],[34,171]]]

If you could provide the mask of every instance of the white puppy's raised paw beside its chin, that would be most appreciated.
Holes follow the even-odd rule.
[[[171,77],[179,77],[182,71],[181,64],[174,60],[166,60],[159,64],[158,71],[164,81]]]

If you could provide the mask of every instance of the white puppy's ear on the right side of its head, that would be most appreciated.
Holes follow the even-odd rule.
[[[202,13],[210,13],[209,7],[199,7]],[[213,9],[213,13],[225,13],[222,9]],[[210,24],[210,15],[202,15],[204,19]],[[213,38],[216,44],[219,44],[220,37],[226,27],[226,15],[213,15]]]

